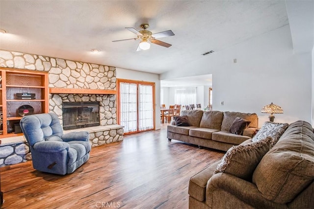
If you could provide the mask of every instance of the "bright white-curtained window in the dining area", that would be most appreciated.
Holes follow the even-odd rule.
[[[196,104],[196,87],[175,89],[175,104]]]

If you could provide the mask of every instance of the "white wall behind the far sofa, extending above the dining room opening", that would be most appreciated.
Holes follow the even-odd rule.
[[[233,59],[237,63],[233,63]],[[213,110],[257,113],[264,105],[284,109],[275,122],[311,122],[311,53],[294,54],[289,25],[168,71],[160,79],[212,73]],[[220,102],[224,101],[221,106]]]

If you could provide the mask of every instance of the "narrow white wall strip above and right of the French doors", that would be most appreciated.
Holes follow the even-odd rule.
[[[135,70],[116,68],[117,79],[155,82],[155,128],[160,129],[160,80],[159,75]]]

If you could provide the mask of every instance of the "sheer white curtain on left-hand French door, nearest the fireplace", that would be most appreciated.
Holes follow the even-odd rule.
[[[137,86],[136,84],[120,83],[121,114],[120,122],[124,132],[133,132],[137,128]]]

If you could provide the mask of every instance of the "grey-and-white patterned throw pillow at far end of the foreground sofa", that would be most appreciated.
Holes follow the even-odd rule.
[[[288,123],[274,123],[266,121],[262,125],[259,132],[252,138],[252,141],[259,141],[261,139],[265,139],[266,137],[271,137],[273,138],[273,141],[270,144],[270,148],[272,148],[277,143],[281,135],[283,135],[286,131],[288,126]]]

